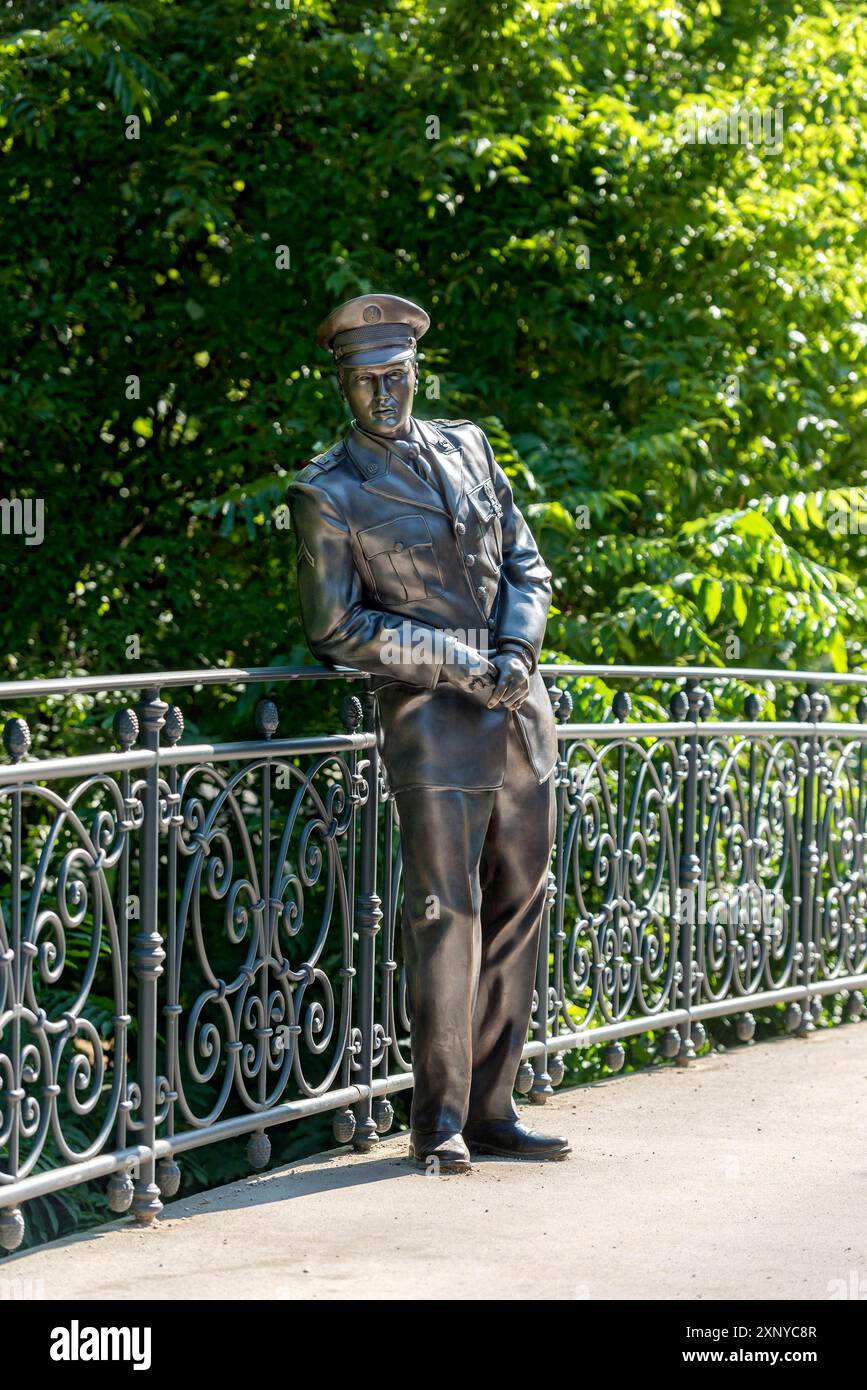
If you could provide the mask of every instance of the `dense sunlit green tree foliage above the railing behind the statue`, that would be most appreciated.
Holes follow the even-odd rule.
[[[311,335],[375,288],[514,475],[552,651],[860,663],[859,8],[13,0],[0,495],[46,538],[0,546],[4,674],[304,659]],[[774,139],[688,142],[738,108]]]

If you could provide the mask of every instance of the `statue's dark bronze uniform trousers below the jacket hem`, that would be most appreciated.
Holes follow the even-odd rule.
[[[539,784],[510,712],[502,787],[410,787],[395,802],[411,1127],[457,1133],[517,1118],[513,1088],[532,1012],[554,778]]]

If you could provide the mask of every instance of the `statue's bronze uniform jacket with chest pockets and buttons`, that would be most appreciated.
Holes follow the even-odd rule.
[[[536,666],[550,570],[484,431],[468,420],[411,425],[431,481],[400,456],[400,445],[393,449],[353,421],[289,484],[308,646],[322,662],[372,676],[393,791],[502,787],[510,719],[542,783],[557,760]],[[467,634],[475,649],[488,642],[490,656],[497,638],[524,645],[534,670],[518,710],[488,709],[489,689],[447,684],[436,642],[442,630]]]

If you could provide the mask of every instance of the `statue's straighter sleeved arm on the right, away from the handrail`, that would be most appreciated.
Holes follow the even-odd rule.
[[[535,670],[552,600],[552,571],[539,555],[534,534],[514,500],[511,484],[496,461],[488,436],[484,431],[479,432],[485,441],[490,477],[503,509],[500,518],[503,564],[496,642],[502,649],[507,649],[510,642],[524,648],[531,657],[531,670]]]

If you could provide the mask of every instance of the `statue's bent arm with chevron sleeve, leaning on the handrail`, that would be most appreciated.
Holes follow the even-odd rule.
[[[443,666],[436,628],[402,613],[368,607],[353,559],[352,532],[339,507],[322,488],[308,482],[290,484],[286,495],[297,541],[299,600],[310,651],[322,662],[432,689]],[[425,648],[432,659],[420,660],[418,653]]]

